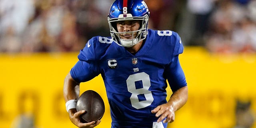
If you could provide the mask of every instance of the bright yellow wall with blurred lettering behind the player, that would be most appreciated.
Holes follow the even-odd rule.
[[[62,88],[77,54],[0,54],[0,127],[15,128],[25,112],[34,113],[36,128],[76,128],[65,110]],[[256,55],[210,55],[202,48],[186,47],[180,62],[189,99],[169,128],[232,128],[236,98],[252,100],[256,110]],[[101,76],[81,84],[81,92],[88,89],[98,92],[106,106],[96,128],[110,128]]]

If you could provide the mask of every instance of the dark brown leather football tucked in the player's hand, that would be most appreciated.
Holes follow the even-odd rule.
[[[102,118],[105,112],[104,101],[100,94],[93,90],[87,90],[83,92],[78,98],[76,104],[76,110],[85,110],[86,112],[80,117],[80,121],[83,123],[88,123],[92,121],[97,121]]]

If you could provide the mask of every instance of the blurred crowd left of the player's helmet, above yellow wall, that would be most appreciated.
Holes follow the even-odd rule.
[[[112,0],[0,0],[0,52],[72,52],[108,36]]]

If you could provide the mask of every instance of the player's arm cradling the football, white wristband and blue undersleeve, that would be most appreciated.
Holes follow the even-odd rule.
[[[82,123],[80,122],[80,115],[84,114],[86,110],[76,111],[76,100],[78,100],[80,94],[80,82],[86,82],[94,77],[95,75],[90,72],[89,64],[84,61],[78,61],[64,79],[63,94],[66,109],[71,122],[79,128],[92,128],[100,123],[100,120],[96,123],[94,121]]]

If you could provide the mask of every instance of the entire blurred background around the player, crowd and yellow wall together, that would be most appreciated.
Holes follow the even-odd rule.
[[[109,36],[112,1],[0,0],[0,128],[76,128],[65,110],[64,78],[88,39]],[[256,128],[256,0],[145,2],[149,28],[174,30],[185,46],[189,98],[168,127]],[[101,77],[81,84],[81,92],[88,89],[106,105],[96,128],[110,128]]]

